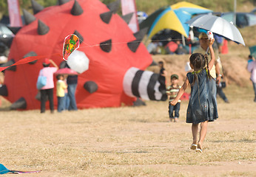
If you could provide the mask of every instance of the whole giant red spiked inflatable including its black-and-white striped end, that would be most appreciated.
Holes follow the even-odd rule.
[[[115,13],[118,6],[107,6],[99,0],[76,0],[47,7],[35,16],[24,11],[26,25],[13,39],[8,64],[29,56],[38,59],[5,70],[0,94],[13,103],[13,108],[40,108],[36,80],[43,67],[44,59],[40,56],[44,55],[60,68],[65,63],[75,69],[88,64],[78,74],[75,92],[78,108],[133,105],[136,97],[166,99],[165,91],[158,89],[158,74],[144,72],[152,63],[151,55],[141,43],[146,30],[133,34],[124,21],[127,17],[123,19]]]

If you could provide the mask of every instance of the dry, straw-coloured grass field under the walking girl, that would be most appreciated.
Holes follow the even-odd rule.
[[[95,108],[61,114],[0,111],[0,159],[20,176],[256,176],[252,87],[229,86],[218,98],[219,119],[209,123],[203,153],[189,150],[187,101],[177,123],[168,102]],[[13,176],[13,175],[4,175]]]

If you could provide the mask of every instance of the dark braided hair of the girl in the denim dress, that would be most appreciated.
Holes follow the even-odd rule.
[[[189,62],[192,64],[195,71],[200,71],[201,69],[203,69],[206,66],[207,67],[207,75],[209,78],[211,78],[210,74],[209,74],[208,57],[206,55],[203,56],[201,53],[194,53],[190,56]],[[194,77],[192,85],[195,83],[195,80],[198,80],[198,76],[197,76],[196,72],[194,72],[194,76],[195,77]]]

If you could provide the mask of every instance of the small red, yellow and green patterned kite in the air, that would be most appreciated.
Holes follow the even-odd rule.
[[[68,35],[64,39],[64,44],[63,44],[63,59],[67,60],[67,58],[70,56],[72,52],[75,51],[75,49],[78,49],[79,47],[79,38],[77,35]]]

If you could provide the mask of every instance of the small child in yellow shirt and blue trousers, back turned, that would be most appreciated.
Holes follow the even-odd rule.
[[[65,89],[67,89],[67,84],[64,81],[64,75],[57,75],[57,86],[56,95],[58,98],[58,112],[65,110]]]

